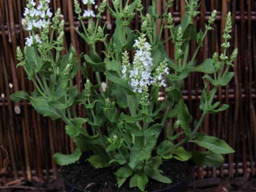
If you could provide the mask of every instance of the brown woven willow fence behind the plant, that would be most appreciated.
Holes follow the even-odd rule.
[[[38,2],[38,1],[37,1]],[[109,2],[109,0],[108,0]],[[132,2],[132,1],[131,1]],[[148,7],[149,0],[143,0]],[[100,1],[98,0],[99,4]],[[158,0],[158,13],[165,10],[166,0]],[[25,178],[43,181],[55,178],[57,166],[52,160],[55,151],[70,153],[75,146],[73,141],[65,134],[64,124],[61,121],[52,122],[48,118],[38,115],[30,103],[23,101],[13,103],[10,94],[18,90],[31,92],[33,85],[28,81],[25,72],[18,68],[15,49],[17,45],[24,45],[27,31],[22,27],[23,8],[25,0],[0,0],[0,183]],[[52,11],[61,7],[65,19],[65,46],[71,43],[78,54],[87,52],[88,47],[70,26],[80,27],[74,13],[72,0],[52,0]],[[180,22],[184,14],[185,0],[174,1],[170,9],[175,22]],[[254,0],[209,0],[201,1],[198,15],[198,28],[204,29],[204,22],[209,18],[210,12],[218,10],[214,30],[207,35],[203,48],[199,51],[197,62],[220,52],[222,43],[221,31],[225,26],[228,11],[233,15],[233,38],[231,47],[238,47],[239,57],[235,62],[235,77],[233,82],[224,89],[219,87],[215,99],[228,103],[229,109],[219,115],[207,116],[201,131],[226,140],[236,150],[235,154],[226,155],[226,163],[219,169],[199,167],[199,178],[215,177],[217,175],[234,177],[238,174],[255,174],[256,161],[256,118],[255,118],[255,75],[256,75],[256,1]],[[86,22],[86,21],[85,21]],[[115,22],[109,12],[106,12],[102,22],[107,22],[107,33],[113,33]],[[135,15],[131,28],[140,27],[140,18]],[[169,31],[165,31],[167,36]],[[102,45],[98,44],[99,53]],[[166,42],[167,53],[173,57],[172,42]],[[190,47],[193,53],[196,43]],[[23,47],[22,47],[23,49]],[[79,71],[76,82],[81,91],[84,79],[83,71]],[[92,72],[89,70],[93,81]],[[198,110],[201,95],[202,74],[194,73],[185,82],[183,97],[187,100],[190,113],[194,118],[200,116]],[[77,107],[78,116],[85,116],[82,108]],[[172,119],[170,119],[172,121]]]

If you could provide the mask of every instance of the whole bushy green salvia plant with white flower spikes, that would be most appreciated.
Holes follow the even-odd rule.
[[[59,165],[75,163],[89,150],[93,155],[87,161],[95,168],[116,167],[118,187],[129,182],[131,188],[145,191],[148,178],[172,182],[159,169],[166,159],[182,162],[191,159],[197,165],[219,166],[223,163],[222,154],[234,153],[225,141],[198,130],[206,115],[228,108],[213,99],[218,86],[226,86],[234,76],[229,69],[233,67],[237,49],[228,57],[230,13],[223,31],[222,52],[197,63],[196,55],[207,32],[213,30],[217,11],[211,13],[205,30],[197,31],[194,20],[199,14],[198,0],[186,1],[186,13],[179,25],[168,12],[173,0],[167,1],[163,15],[156,12],[157,0],[152,1],[146,14],[143,14],[141,0],[129,2],[111,0],[113,6],[110,6],[103,0],[93,11],[94,0],[74,0],[82,30],[74,29],[90,47],[89,52],[82,55],[86,83],[79,93],[74,78],[81,68],[80,57],[73,47],[67,54],[60,54],[64,35],[60,9],[53,15],[50,0],[41,0],[38,5],[33,0],[28,1],[24,16],[29,37],[24,53],[17,47],[17,57],[18,66],[25,69],[36,90],[30,94],[19,91],[12,94],[11,99],[15,102],[29,100],[39,114],[66,123],[66,133],[74,140],[76,150],[69,155],[55,154],[53,158]],[[110,23],[100,25],[106,9],[115,18],[113,35],[105,34]],[[135,12],[141,16],[140,30],[129,28]],[[160,30],[157,30],[157,19],[162,21]],[[163,39],[166,28],[170,37]],[[175,46],[174,58],[164,49],[164,43],[169,40]],[[189,55],[191,41],[197,43],[197,48]],[[96,51],[98,42],[105,46],[101,52],[103,57]],[[90,81],[87,68],[95,72],[98,83]],[[181,94],[185,79],[194,72],[204,74],[199,105],[202,115],[198,121],[193,121]],[[164,101],[158,101],[161,90],[166,93]],[[83,106],[86,118],[77,117],[74,105]],[[174,123],[170,124],[168,118],[173,118]],[[158,139],[164,126],[167,140]],[[178,138],[183,139],[177,142]],[[187,151],[182,147],[186,142],[206,150]]]

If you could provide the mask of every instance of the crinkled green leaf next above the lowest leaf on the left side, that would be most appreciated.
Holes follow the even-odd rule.
[[[83,129],[82,125],[86,122],[86,119],[73,118],[70,120],[70,122],[72,123],[72,125],[66,125],[66,132],[70,137],[76,137],[81,133]]]

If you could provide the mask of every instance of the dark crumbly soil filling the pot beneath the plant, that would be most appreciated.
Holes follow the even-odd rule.
[[[70,166],[62,167],[62,178],[72,185],[85,189],[90,192],[139,192],[138,188],[129,187],[129,179],[121,188],[117,187],[116,176],[114,172],[115,167],[108,167],[104,169],[94,169],[89,162],[81,161]],[[180,163],[178,161],[165,161],[160,169],[164,171],[164,175],[172,180],[171,185],[184,180],[191,175],[191,167],[187,163]],[[170,184],[158,182],[149,179],[146,190],[154,191],[170,187]]]

